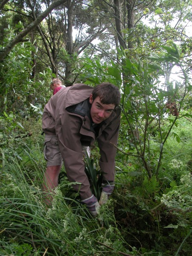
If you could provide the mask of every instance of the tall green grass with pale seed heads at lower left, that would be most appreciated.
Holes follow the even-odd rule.
[[[41,190],[45,166],[38,144],[34,151],[23,148],[22,156],[7,152],[0,182],[0,255],[116,255],[117,249],[126,255],[110,201],[100,217],[92,218],[78,201],[73,207],[66,203],[73,199],[64,198],[65,184],[61,184],[47,209]],[[108,227],[100,224],[103,217]]]

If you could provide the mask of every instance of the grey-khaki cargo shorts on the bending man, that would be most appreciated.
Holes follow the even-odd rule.
[[[44,145],[44,158],[47,161],[47,167],[62,165],[63,160],[59,150],[57,136],[45,134]]]

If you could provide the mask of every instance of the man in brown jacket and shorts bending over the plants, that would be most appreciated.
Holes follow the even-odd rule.
[[[64,162],[73,188],[79,192],[82,203],[95,216],[114,189],[115,156],[120,127],[120,92],[110,83],[96,87],[74,84],[51,97],[45,105],[42,128],[45,132],[44,156],[47,169],[44,191],[58,186],[58,176]],[[102,171],[102,193],[99,202],[90,190],[84,171],[82,145],[90,146],[97,140],[100,150],[99,166]],[[52,198],[45,202],[51,204]]]

